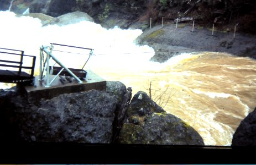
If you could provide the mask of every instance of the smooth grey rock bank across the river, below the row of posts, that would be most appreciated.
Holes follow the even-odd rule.
[[[217,28],[215,28],[217,29]],[[212,27],[202,27],[195,24],[167,23],[148,28],[137,38],[140,45],[152,46],[155,56],[151,61],[165,62],[169,58],[183,52],[227,52],[235,56],[252,57],[256,59],[256,37],[239,32],[237,27],[234,37],[233,29],[229,31],[215,30]]]

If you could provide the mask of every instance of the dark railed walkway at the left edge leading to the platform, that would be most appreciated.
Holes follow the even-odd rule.
[[[0,83],[33,85],[35,58],[24,51],[0,48]],[[32,66],[23,66],[24,59]]]

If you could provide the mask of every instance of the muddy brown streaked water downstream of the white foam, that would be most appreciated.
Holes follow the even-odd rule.
[[[256,61],[217,52],[180,56],[157,69],[93,69],[131,86],[133,94],[149,93],[151,81],[153,100],[197,130],[205,145],[231,145],[241,120],[256,107]]]

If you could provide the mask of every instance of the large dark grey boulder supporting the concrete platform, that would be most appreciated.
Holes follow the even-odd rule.
[[[111,143],[116,111],[125,94],[126,86],[112,81],[107,91],[63,94],[35,104],[16,87],[1,90],[0,139]]]

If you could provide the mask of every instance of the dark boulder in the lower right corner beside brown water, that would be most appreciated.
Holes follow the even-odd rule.
[[[232,146],[256,145],[256,108],[245,117],[233,135]]]

